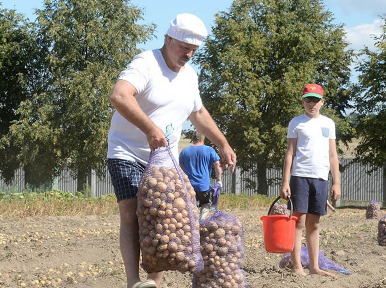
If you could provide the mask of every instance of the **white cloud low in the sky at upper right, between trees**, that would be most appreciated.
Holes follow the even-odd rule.
[[[364,46],[370,50],[375,49],[374,36],[379,37],[382,34],[381,26],[384,24],[382,19],[375,19],[372,24],[360,24],[354,27],[346,27],[346,38],[350,47],[353,49],[362,49]]]

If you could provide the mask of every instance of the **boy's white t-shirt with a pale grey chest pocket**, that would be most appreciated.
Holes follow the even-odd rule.
[[[334,121],[302,114],[289,122],[287,138],[297,138],[291,175],[328,180],[329,142],[336,139]]]

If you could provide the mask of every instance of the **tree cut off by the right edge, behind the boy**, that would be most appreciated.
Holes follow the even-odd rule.
[[[383,34],[374,37],[377,51],[362,49],[364,60],[357,66],[360,73],[355,86],[356,119],[360,142],[356,159],[374,169],[386,163],[386,16]]]

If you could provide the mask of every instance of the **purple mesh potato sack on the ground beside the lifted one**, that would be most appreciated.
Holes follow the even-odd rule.
[[[245,254],[245,238],[238,218],[216,211],[201,220],[200,242],[204,269],[193,274],[193,288],[251,287],[240,269]]]

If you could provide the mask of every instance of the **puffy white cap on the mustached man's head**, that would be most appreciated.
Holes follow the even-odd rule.
[[[200,46],[202,40],[208,36],[208,31],[204,22],[196,15],[183,13],[171,20],[166,34],[179,41]]]

